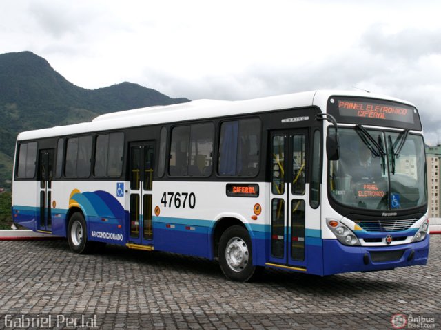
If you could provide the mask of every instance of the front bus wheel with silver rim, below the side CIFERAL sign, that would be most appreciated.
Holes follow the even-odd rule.
[[[223,232],[218,252],[220,269],[229,280],[250,281],[263,270],[263,267],[253,265],[251,239],[240,225],[233,225]]]

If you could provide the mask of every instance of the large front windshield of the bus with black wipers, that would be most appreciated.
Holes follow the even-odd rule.
[[[408,130],[338,129],[340,159],[329,162],[330,195],[351,208],[397,210],[427,203],[424,142]]]

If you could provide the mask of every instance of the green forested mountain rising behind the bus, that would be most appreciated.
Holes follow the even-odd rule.
[[[83,89],[32,52],[0,54],[0,188],[10,188],[17,133],[89,121],[97,115],[189,102],[154,89],[121,83]]]

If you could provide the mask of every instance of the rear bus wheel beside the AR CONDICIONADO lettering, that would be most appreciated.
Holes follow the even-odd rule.
[[[68,242],[72,252],[85,254],[92,250],[93,242],[88,241],[88,231],[83,214],[75,212],[69,220]]]

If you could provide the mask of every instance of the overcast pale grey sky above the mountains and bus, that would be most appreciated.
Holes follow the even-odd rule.
[[[0,0],[0,53],[192,100],[356,86],[416,104],[436,144],[440,15],[439,0]]]

